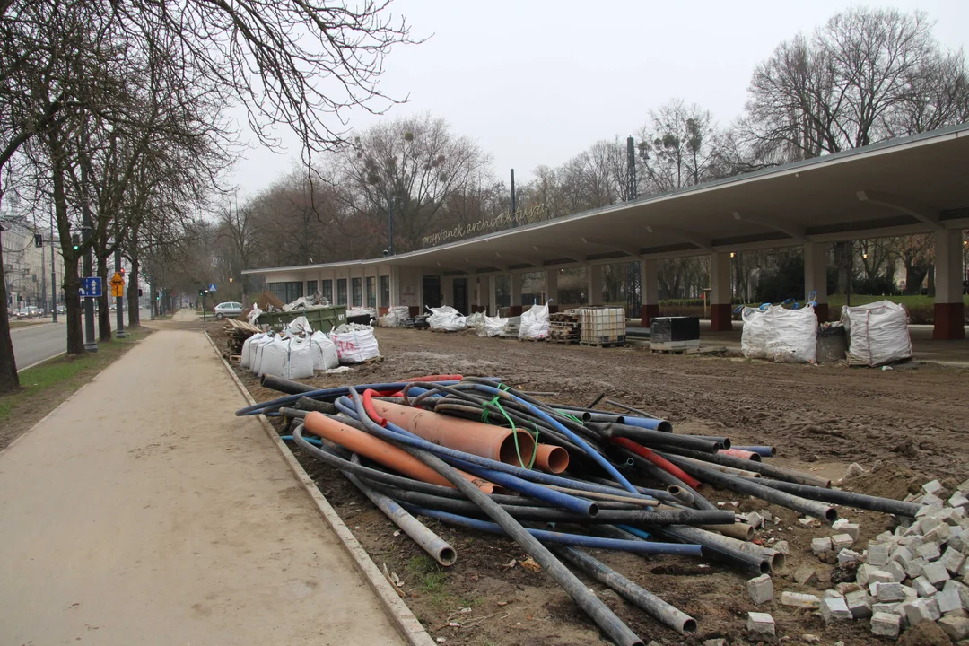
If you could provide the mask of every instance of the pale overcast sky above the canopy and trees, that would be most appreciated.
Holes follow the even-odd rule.
[[[476,139],[499,177],[531,178],[595,141],[636,135],[648,110],[674,98],[728,125],[743,109],[754,67],[774,47],[810,33],[853,3],[739,0],[395,0],[418,46],[387,59],[384,90],[410,97],[384,117],[354,114],[350,126],[430,112]],[[854,3],[858,4],[858,3]],[[869,6],[922,9],[943,46],[969,48],[969,1],[893,0]],[[334,126],[337,124],[334,122]],[[230,182],[244,196],[265,189],[299,158],[248,150]]]

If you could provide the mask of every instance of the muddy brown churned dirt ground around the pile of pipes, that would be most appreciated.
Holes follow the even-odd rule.
[[[217,345],[221,325],[210,324]],[[435,373],[501,376],[528,390],[554,391],[555,401],[588,405],[599,394],[636,406],[673,422],[681,432],[729,436],[735,445],[777,447],[777,464],[832,478],[858,462],[867,474],[843,483],[872,495],[904,497],[922,482],[940,477],[950,485],[969,470],[969,371],[932,365],[891,371],[843,365],[768,364],[737,357],[652,354],[639,348],[595,349],[576,346],[481,339],[465,333],[436,334],[378,329],[382,361],[341,375],[317,375],[314,385],[393,381]],[[257,400],[278,393],[266,390],[237,370]],[[523,569],[522,550],[505,538],[454,530],[427,522],[456,549],[457,563],[438,567],[373,508],[342,476],[294,448],[300,462],[334,508],[354,530],[379,567],[387,565],[404,581],[408,604],[435,637],[448,644],[590,644],[600,633],[541,572]],[[648,485],[648,482],[645,482]],[[589,581],[645,641],[700,644],[724,636],[735,646],[747,643],[750,610],[770,612],[779,638],[811,643],[843,640],[847,646],[878,643],[867,622],[827,627],[817,612],[779,603],[782,591],[820,594],[839,572],[810,552],[811,538],[830,536],[828,527],[805,528],[797,514],[756,499],[708,490],[711,500],[739,511],[767,509],[780,521],[759,532],[765,544],[790,543],[787,569],[774,575],[778,600],[755,607],[745,581],[752,576],[715,562],[672,556],[642,558],[598,552],[597,558],[644,588],[693,616],[699,630],[681,636],[640,609]],[[891,516],[840,508],[859,522],[857,544],[890,529]],[[516,561],[517,565],[512,562]],[[816,569],[817,583],[801,586],[793,578],[802,565]],[[463,610],[462,610],[463,609]],[[755,642],[756,643],[756,642]],[[932,642],[934,643],[934,642]],[[941,642],[948,643],[948,642]]]

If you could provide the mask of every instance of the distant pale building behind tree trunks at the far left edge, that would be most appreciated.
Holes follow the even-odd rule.
[[[50,309],[52,299],[64,302],[64,259],[60,242],[54,240],[54,272],[56,288],[50,285],[50,230],[34,228],[21,219],[2,222],[0,242],[3,244],[4,287],[7,292],[7,308],[19,309],[31,305]],[[35,246],[34,235],[44,236],[44,246]],[[46,300],[45,300],[46,299]]]

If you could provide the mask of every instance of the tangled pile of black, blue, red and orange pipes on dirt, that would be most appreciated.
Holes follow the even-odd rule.
[[[236,415],[286,418],[284,439],[341,471],[439,563],[457,555],[417,516],[513,538],[623,646],[642,642],[563,562],[674,631],[697,623],[582,548],[716,559],[759,575],[784,567],[785,553],[749,541],[753,526],[704,498],[703,484],[828,523],[835,505],[906,517],[922,508],[768,464],[767,446],[675,434],[670,422],[610,400],[629,414],[549,403],[495,378],[263,385],[289,394]]]

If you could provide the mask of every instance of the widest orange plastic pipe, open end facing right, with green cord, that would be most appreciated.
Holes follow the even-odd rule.
[[[535,452],[535,440],[520,429],[490,426],[480,421],[440,415],[410,406],[391,404],[380,399],[371,400],[376,414],[397,426],[436,445],[447,446],[466,453],[480,455],[505,462],[527,466]],[[515,447],[517,438],[518,447]]]

